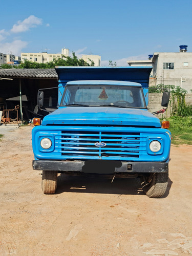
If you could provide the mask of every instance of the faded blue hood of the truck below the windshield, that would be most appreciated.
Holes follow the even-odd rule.
[[[42,125],[65,124],[161,127],[159,118],[147,110],[114,107],[64,106],[42,120]]]

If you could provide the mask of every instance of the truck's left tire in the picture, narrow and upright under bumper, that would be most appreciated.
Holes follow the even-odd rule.
[[[54,194],[57,188],[57,172],[43,170],[41,187],[44,194]]]

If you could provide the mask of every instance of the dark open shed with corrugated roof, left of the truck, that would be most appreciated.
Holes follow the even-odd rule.
[[[41,115],[37,92],[52,87],[58,87],[55,69],[0,69],[0,120],[19,123]],[[45,111],[55,108],[57,101],[57,89],[44,91]]]

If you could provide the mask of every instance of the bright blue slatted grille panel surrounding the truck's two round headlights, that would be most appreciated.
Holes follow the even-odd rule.
[[[39,160],[166,162],[169,158],[170,132],[161,128],[36,126],[32,136],[35,159]],[[39,137],[47,136],[53,137],[54,150],[42,152]],[[150,151],[149,144],[153,139],[162,145],[159,153]],[[106,146],[97,147],[96,142],[103,142]]]

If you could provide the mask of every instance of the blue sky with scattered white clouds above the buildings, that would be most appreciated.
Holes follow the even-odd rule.
[[[1,1],[0,52],[101,56],[127,66],[154,52],[192,52],[192,0]]]

